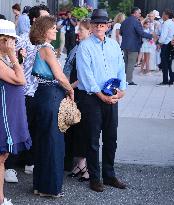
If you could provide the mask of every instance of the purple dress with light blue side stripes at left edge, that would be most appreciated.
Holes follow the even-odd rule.
[[[29,150],[31,144],[23,86],[0,79],[0,154],[18,154]]]

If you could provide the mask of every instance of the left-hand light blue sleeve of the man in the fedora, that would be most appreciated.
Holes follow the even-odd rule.
[[[81,84],[87,92],[98,93],[101,92],[101,89],[95,81],[93,71],[91,70],[91,63],[90,53],[81,43],[76,53],[76,68],[79,84]]]

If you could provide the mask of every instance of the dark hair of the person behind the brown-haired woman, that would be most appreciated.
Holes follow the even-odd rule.
[[[50,12],[49,8],[43,4],[39,5],[39,6],[33,6],[28,13],[28,17],[30,19],[30,25],[33,25],[33,19],[34,18],[38,18],[40,16],[40,11],[44,10],[44,11],[48,11],[48,13]]]

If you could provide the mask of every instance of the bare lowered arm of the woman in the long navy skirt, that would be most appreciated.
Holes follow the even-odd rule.
[[[48,47],[41,48],[40,55],[41,58],[45,60],[48,63],[48,65],[51,67],[55,79],[58,80],[61,86],[68,91],[70,98],[73,100],[74,99],[73,88],[71,87],[67,77],[63,73],[60,64],[57,62],[54,52],[51,50],[51,48]]]

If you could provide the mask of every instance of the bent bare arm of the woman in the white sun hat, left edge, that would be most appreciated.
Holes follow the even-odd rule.
[[[14,84],[24,85],[26,83],[24,72],[19,65],[15,54],[15,44],[13,40],[8,39],[6,42],[6,53],[13,65],[13,69],[9,68],[3,61],[0,61],[0,79]]]

